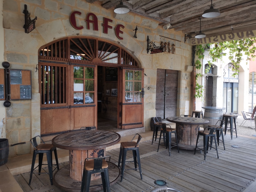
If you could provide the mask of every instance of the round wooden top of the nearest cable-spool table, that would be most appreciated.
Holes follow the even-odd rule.
[[[83,130],[58,135],[52,139],[52,145],[67,150],[91,150],[115,145],[120,139],[113,131]]]

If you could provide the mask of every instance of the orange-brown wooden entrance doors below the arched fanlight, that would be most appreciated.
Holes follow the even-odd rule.
[[[143,69],[117,69],[118,128],[143,127]],[[41,135],[97,128],[97,65],[39,60],[39,92]]]

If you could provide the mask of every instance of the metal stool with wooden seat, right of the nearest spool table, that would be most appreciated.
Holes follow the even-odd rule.
[[[137,142],[133,141],[134,138],[136,137],[136,135],[138,135]],[[126,162],[134,162],[134,167],[135,167],[134,170],[137,170],[138,169],[137,168],[137,161],[136,161],[136,157],[137,157],[138,166],[139,166],[139,170],[140,170],[140,177],[141,177],[141,180],[142,180],[142,172],[141,172],[141,166],[140,166],[140,152],[139,152],[140,140],[141,140],[141,136],[138,133],[136,133],[134,135],[134,137],[132,138],[132,141],[121,142],[119,159],[118,159],[118,167],[120,167],[120,162],[121,162],[121,157],[122,157],[121,182],[122,182],[123,177],[124,177],[124,171],[125,170],[132,170],[132,169],[124,169],[126,153],[129,150],[132,150],[133,161],[126,161]]]

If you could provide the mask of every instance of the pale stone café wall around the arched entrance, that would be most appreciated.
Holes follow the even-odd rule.
[[[0,1],[1,2],[1,1]],[[3,2],[3,1],[2,1]],[[84,0],[8,0],[3,3],[3,28],[4,28],[4,59],[10,62],[11,69],[28,69],[32,72],[32,100],[12,100],[12,105],[6,108],[6,114],[1,114],[6,124],[6,138],[9,144],[26,142],[26,144],[10,146],[9,156],[27,154],[32,151],[29,140],[40,135],[40,94],[38,84],[38,72],[35,72],[38,64],[38,49],[58,38],[67,36],[93,36],[110,40],[124,47],[138,61],[139,67],[144,68],[147,76],[144,76],[144,126],[150,130],[150,119],[156,115],[156,77],[157,68],[178,70],[178,100],[177,116],[185,112],[185,100],[190,100],[190,72],[192,46],[187,41],[184,43],[184,34],[174,29],[164,30],[156,20],[148,19],[134,13],[118,15],[113,8],[102,8],[100,1],[87,3]],[[37,16],[36,29],[29,34],[24,32],[24,4],[31,13],[31,19]],[[77,26],[84,26],[82,30],[74,29],[69,21],[72,11],[82,14],[76,15]],[[98,18],[99,31],[86,28],[85,17],[88,13],[94,13]],[[1,14],[0,14],[1,15]],[[1,16],[0,16],[1,17]],[[113,29],[108,29],[108,34],[103,33],[103,17],[113,19],[108,24]],[[0,19],[1,20],[1,19]],[[124,39],[120,40],[115,35],[115,26],[125,26],[120,34]],[[138,25],[137,39],[133,38]],[[141,28],[141,27],[143,28]],[[1,32],[1,30],[0,30]],[[167,38],[160,37],[165,36]],[[147,53],[147,36],[157,46],[160,42],[175,44],[175,54],[164,52],[157,54]],[[1,36],[1,38],[3,38]],[[171,40],[175,39],[175,40]],[[0,44],[0,47],[3,44]],[[148,89],[149,88],[149,89]],[[1,112],[2,113],[2,112]],[[4,135],[4,134],[3,134]]]

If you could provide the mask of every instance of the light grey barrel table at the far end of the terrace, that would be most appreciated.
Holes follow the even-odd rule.
[[[223,107],[202,107],[204,109],[204,119],[211,121],[209,125],[215,125],[218,120],[222,120]],[[208,124],[207,124],[208,125]]]

